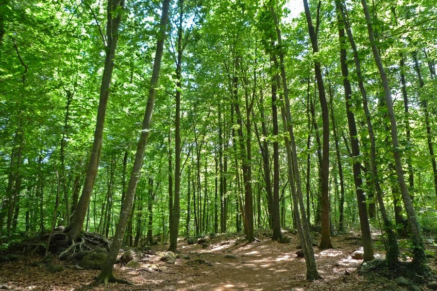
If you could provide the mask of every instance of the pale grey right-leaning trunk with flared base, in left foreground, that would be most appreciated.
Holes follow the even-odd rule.
[[[159,72],[161,69],[161,60],[164,50],[164,40],[167,31],[169,2],[170,2],[169,0],[163,0],[163,4],[162,4],[162,15],[159,24],[159,34],[158,34],[158,40],[156,46],[155,60],[153,63],[153,72],[151,76],[149,96],[147,100],[146,111],[144,113],[141,135],[138,140],[138,145],[136,148],[134,165],[132,167],[131,176],[129,178],[126,197],[124,199],[124,203],[121,209],[120,218],[118,220],[116,233],[111,248],[109,249],[108,256],[106,257],[106,259],[101,265],[101,273],[97,277],[98,282],[102,282],[105,285],[109,281],[120,281],[120,279],[115,278],[112,272],[113,272],[114,264],[117,259],[118,250],[120,249],[121,243],[123,241],[126,224],[131,213],[132,204],[136,192],[136,185],[138,183],[138,179],[141,174],[144,151],[150,133],[151,117],[153,113],[153,107],[155,105],[156,87],[158,85]]]

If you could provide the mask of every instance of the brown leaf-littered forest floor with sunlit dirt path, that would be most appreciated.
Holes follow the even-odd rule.
[[[222,234],[209,239],[209,246],[187,244],[181,239],[179,256],[175,264],[160,261],[158,255],[136,253],[140,261],[137,269],[115,266],[115,275],[134,283],[134,286],[110,284],[108,290],[403,290],[394,280],[379,275],[358,275],[357,267],[362,260],[352,259],[352,253],[360,247],[356,234],[333,237],[334,249],[320,251],[315,256],[321,280],[305,281],[305,261],[296,251],[299,238],[285,233],[290,243],[272,242],[268,232],[258,233],[261,242],[247,243],[243,236]],[[153,251],[166,251],[168,245],[156,245]],[[382,247],[382,246],[381,246]],[[435,252],[435,249],[433,250]],[[375,249],[375,257],[383,258],[381,249]],[[99,274],[98,270],[76,270],[67,262],[59,273],[50,273],[44,265],[38,265],[41,257],[24,257],[14,262],[0,264],[0,286],[7,284],[10,290],[104,290],[103,286],[87,286]],[[56,260],[56,259],[53,259]],[[436,257],[429,259],[430,268],[436,274]],[[35,265],[33,267],[33,265]],[[422,290],[426,289],[422,285]]]

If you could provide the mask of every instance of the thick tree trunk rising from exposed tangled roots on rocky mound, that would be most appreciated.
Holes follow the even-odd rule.
[[[105,47],[106,57],[101,79],[99,108],[97,112],[96,129],[94,131],[93,148],[91,150],[91,155],[87,166],[84,188],[82,189],[82,194],[79,199],[76,212],[72,217],[70,225],[67,226],[66,229],[67,237],[72,241],[76,240],[80,236],[82,227],[84,226],[88,204],[91,199],[94,181],[97,177],[97,171],[99,168],[106,105],[108,104],[112,72],[114,69],[115,51],[118,42],[118,27],[121,22],[123,9],[124,0],[108,0],[106,24],[107,45]]]

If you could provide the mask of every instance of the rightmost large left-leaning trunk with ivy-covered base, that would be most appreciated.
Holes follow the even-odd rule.
[[[390,119],[390,129],[391,129],[391,139],[393,144],[393,155],[395,160],[395,169],[398,177],[398,183],[401,188],[401,194],[403,203],[405,205],[405,210],[408,215],[408,220],[411,226],[411,234],[413,240],[413,262],[416,264],[418,271],[423,272],[426,269],[426,258],[424,252],[424,245],[422,241],[422,237],[420,235],[420,227],[416,217],[416,211],[414,210],[413,203],[411,201],[408,188],[405,183],[405,179],[403,177],[403,169],[402,169],[402,161],[401,161],[401,153],[399,151],[399,143],[398,143],[398,129],[396,125],[396,117],[394,115],[393,103],[391,99],[391,92],[388,86],[388,80],[386,76],[386,72],[384,70],[384,66],[382,64],[381,55],[379,49],[377,47],[377,43],[373,34],[372,20],[370,18],[369,7],[367,6],[366,0],[361,0],[361,4],[363,6],[364,15],[366,17],[367,23],[367,31],[369,33],[369,41],[373,52],[373,57],[375,59],[376,65],[378,67],[379,75],[381,77],[381,81],[384,88],[384,96],[386,99],[388,116]]]

